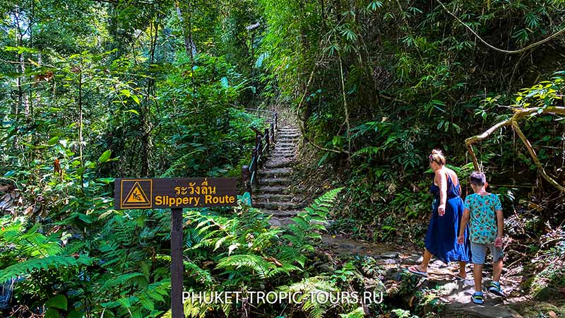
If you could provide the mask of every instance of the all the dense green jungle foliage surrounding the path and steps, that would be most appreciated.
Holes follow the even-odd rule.
[[[296,112],[343,193],[319,193],[285,228],[245,206],[185,211],[192,291],[364,290],[382,273],[367,259],[328,265],[320,222],[335,208],[352,232],[421,239],[429,151],[444,149],[465,187],[465,138],[513,109],[541,110],[521,128],[563,184],[564,121],[543,111],[564,107],[565,37],[507,54],[448,11],[510,50],[565,27],[561,0],[1,1],[0,315],[167,316],[169,214],[113,210],[112,180],[239,176],[249,126],[265,124],[246,107]],[[563,195],[511,129],[475,151],[506,211],[540,215],[528,230],[562,220]],[[305,299],[185,310],[364,315]]]

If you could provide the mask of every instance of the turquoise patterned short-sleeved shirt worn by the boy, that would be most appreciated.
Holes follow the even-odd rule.
[[[470,194],[465,198],[465,208],[471,211],[469,229],[471,242],[492,244],[498,234],[496,211],[502,210],[499,196]]]

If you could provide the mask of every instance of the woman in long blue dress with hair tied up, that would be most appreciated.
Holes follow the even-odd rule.
[[[470,260],[469,229],[465,229],[465,244],[457,243],[460,219],[463,216],[461,187],[456,172],[446,167],[446,158],[439,150],[429,155],[429,166],[434,170],[434,182],[429,191],[434,194],[432,218],[429,220],[424,257],[420,266],[411,266],[408,271],[427,276],[427,267],[432,255],[445,264],[459,262],[456,278],[465,279],[465,264]]]

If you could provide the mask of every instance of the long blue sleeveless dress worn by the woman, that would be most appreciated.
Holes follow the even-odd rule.
[[[471,257],[468,226],[465,228],[465,243],[463,245],[457,243],[464,210],[459,183],[454,185],[449,174],[447,174],[447,178],[446,213],[444,216],[439,216],[437,211],[439,187],[432,181],[432,187],[429,189],[429,192],[432,192],[435,198],[432,204],[432,217],[429,220],[425,246],[430,253],[446,264],[450,261],[468,262]]]

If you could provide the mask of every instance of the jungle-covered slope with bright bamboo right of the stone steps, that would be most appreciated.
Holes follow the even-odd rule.
[[[266,81],[294,107],[310,143],[323,148],[318,165],[343,172],[336,180],[347,186],[343,228],[387,240],[397,224],[413,221],[401,237],[422,237],[415,231],[429,213],[432,148],[446,153],[463,192],[472,192],[465,139],[526,107],[540,112],[522,131],[564,184],[563,117],[542,114],[564,106],[563,1],[259,2]],[[560,223],[563,193],[540,177],[511,127],[475,152],[505,211],[535,207]]]

